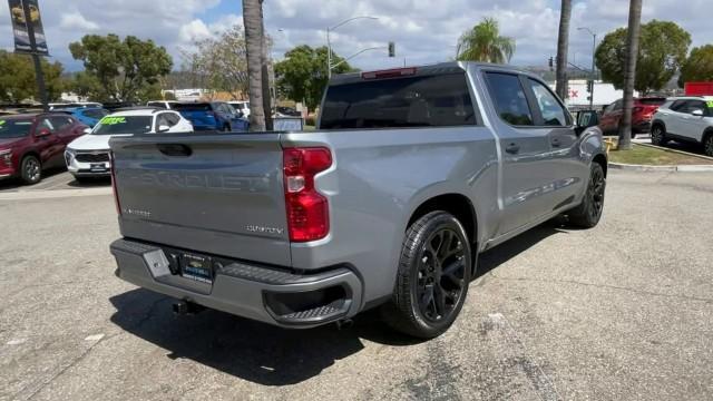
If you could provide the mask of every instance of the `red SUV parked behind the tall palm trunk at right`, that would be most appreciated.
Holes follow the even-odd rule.
[[[651,119],[658,110],[658,106],[663,105],[666,98],[645,97],[634,98],[634,109],[632,113],[632,137],[636,134],[646,134],[651,130]],[[616,100],[604,109],[604,114],[599,119],[599,128],[604,135],[617,135],[619,130],[619,120],[624,114],[624,101]]]

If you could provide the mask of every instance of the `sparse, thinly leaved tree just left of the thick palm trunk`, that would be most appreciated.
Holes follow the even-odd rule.
[[[201,77],[203,87],[227,91],[233,99],[247,95],[245,31],[233,26],[217,38],[198,40],[196,51],[184,52],[183,69]]]

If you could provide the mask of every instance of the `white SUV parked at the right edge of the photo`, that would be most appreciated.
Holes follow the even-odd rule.
[[[713,96],[671,98],[658,108],[651,143],[663,146],[671,139],[702,144],[713,156]]]

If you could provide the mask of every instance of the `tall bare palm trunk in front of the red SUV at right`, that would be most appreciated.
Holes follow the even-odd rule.
[[[632,108],[634,107],[634,82],[638,58],[638,37],[642,28],[642,0],[631,0],[628,9],[628,37],[626,42],[626,68],[624,69],[624,114],[619,121],[619,149],[632,148]]]

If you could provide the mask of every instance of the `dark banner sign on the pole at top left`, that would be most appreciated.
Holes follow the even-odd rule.
[[[8,2],[10,3],[12,32],[14,33],[14,51],[48,56],[38,0],[8,0]],[[23,2],[27,4],[28,14],[25,13]],[[35,31],[35,49],[30,40],[30,27]]]

